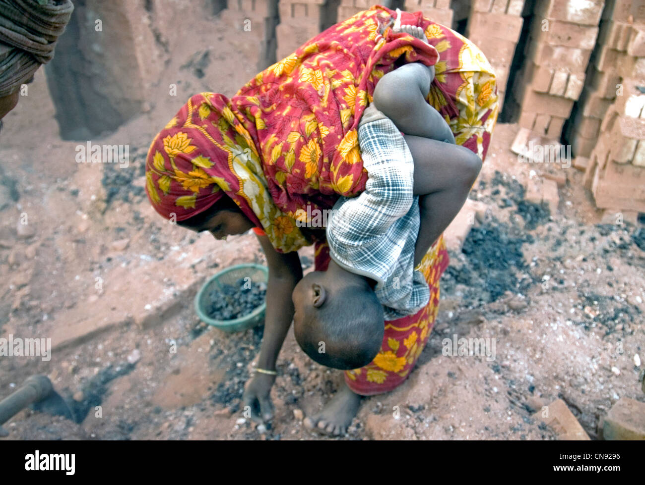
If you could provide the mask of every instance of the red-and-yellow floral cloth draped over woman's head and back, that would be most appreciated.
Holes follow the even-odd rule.
[[[364,190],[357,126],[378,79],[394,63],[437,62],[421,39],[392,32],[382,6],[313,37],[231,99],[195,95],[153,140],[146,193],[165,218],[186,220],[224,194],[275,249],[306,244],[295,219]],[[407,14],[421,25],[422,14]],[[401,59],[400,59],[401,58]]]

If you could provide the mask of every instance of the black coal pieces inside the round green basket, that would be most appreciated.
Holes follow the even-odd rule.
[[[222,285],[208,295],[206,314],[215,320],[232,320],[250,314],[262,305],[266,283],[240,278],[235,285]]]

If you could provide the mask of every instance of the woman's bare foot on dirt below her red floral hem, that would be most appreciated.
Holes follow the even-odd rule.
[[[359,404],[361,396],[344,385],[319,414],[304,418],[304,426],[327,435],[344,435],[359,410]]]

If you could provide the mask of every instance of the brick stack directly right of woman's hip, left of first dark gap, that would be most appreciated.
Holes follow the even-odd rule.
[[[486,55],[497,77],[500,104],[515,47],[522,33],[524,0],[473,0],[468,20],[468,38]],[[501,106],[500,106],[501,109]]]

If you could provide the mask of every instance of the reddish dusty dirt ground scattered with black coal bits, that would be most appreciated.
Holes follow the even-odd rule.
[[[148,144],[181,104],[203,90],[233,95],[255,74],[215,57],[197,79],[180,69],[195,51],[177,43],[149,110],[100,140],[129,144],[127,169],[75,162],[77,142],[58,137],[41,71],[5,119],[0,337],[51,338],[54,350],[50,361],[0,357],[0,397],[45,374],[75,418],[25,410],[5,424],[5,439],[319,439],[296,416],[320,410],[341,372],[304,356],[290,332],[275,419],[261,434],[240,397],[262,328],[225,334],[194,312],[205,278],[264,262],[254,236],[190,233],[157,216],[144,194]],[[499,124],[493,135],[470,195],[490,212],[451,252],[417,368],[394,392],[364,399],[337,439],[555,439],[531,415],[558,397],[593,439],[619,397],[645,401],[635,365],[635,355],[645,359],[645,225],[600,223],[573,167],[556,169],[568,177],[558,213],[526,202],[531,170],[543,168],[517,162],[517,129]],[[301,255],[310,269],[312,249]],[[495,339],[495,359],[443,355],[454,334]]]

